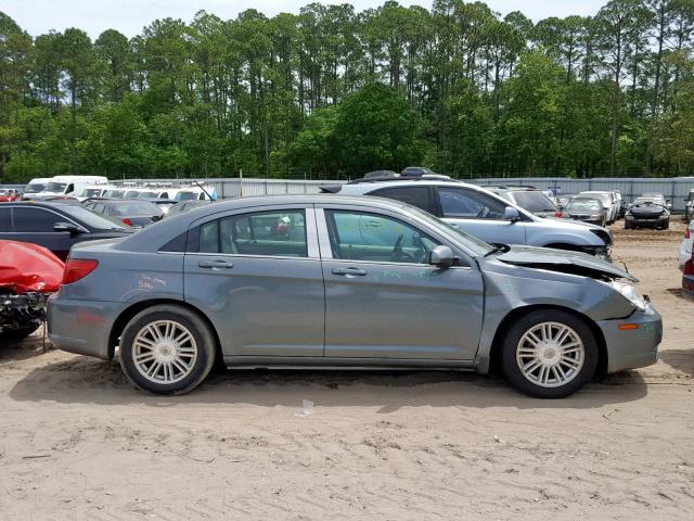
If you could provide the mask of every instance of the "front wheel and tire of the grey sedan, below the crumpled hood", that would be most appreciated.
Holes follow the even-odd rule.
[[[501,367],[509,382],[537,398],[564,398],[586,385],[597,367],[588,325],[561,309],[528,313],[510,328]]]

